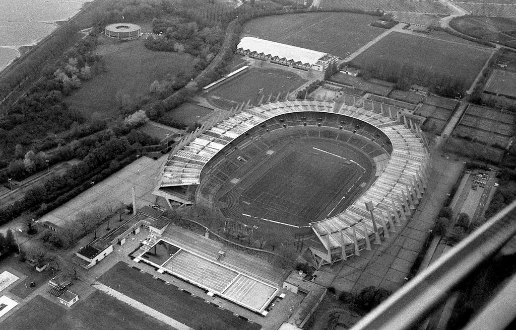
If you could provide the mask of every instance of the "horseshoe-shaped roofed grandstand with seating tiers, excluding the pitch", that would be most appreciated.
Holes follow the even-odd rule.
[[[194,186],[196,202],[213,205],[213,193],[209,192],[231,178],[235,167],[242,166],[237,163],[252,156],[246,159],[239,153],[240,162],[224,162],[231,153],[240,152],[237,149],[242,145],[253,144],[251,153],[260,153],[273,143],[267,139],[276,131],[296,138],[301,137],[300,128],[313,138],[342,138],[350,145],[368,148],[367,154],[375,163],[375,180],[346,210],[310,223],[325,250],[310,248],[310,252],[319,265],[359,255],[361,249],[370,248],[371,239],[379,243],[382,235],[389,236],[389,231],[395,231],[396,224],[411,214],[422,198],[429,171],[430,155],[421,130],[399,112],[376,109],[380,112],[309,100],[252,108],[242,105],[225,120],[200,128],[179,144],[165,164],[155,193],[179,202],[167,189]],[[224,166],[218,168],[220,164]]]

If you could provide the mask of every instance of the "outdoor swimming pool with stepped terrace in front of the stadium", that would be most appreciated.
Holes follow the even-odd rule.
[[[158,246],[162,246],[159,252]],[[159,272],[259,313],[276,297],[283,279],[281,272],[261,259],[227,251],[219,242],[172,224],[152,247],[144,245],[135,255],[136,261],[151,264]]]

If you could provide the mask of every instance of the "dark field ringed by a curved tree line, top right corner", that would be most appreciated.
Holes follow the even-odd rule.
[[[461,16],[453,19],[450,25],[471,37],[501,43],[510,47],[516,46],[516,19]]]

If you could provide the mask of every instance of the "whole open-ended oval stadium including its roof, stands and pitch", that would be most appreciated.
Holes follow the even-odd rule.
[[[415,210],[429,172],[421,130],[376,109],[243,104],[176,146],[155,194],[271,235],[315,234],[320,245],[305,253],[318,266],[359,255]]]

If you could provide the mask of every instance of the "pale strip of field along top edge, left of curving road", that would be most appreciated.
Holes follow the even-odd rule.
[[[450,10],[439,1],[417,0],[321,0],[321,9],[361,9],[385,11],[422,12],[433,14],[450,14]]]

